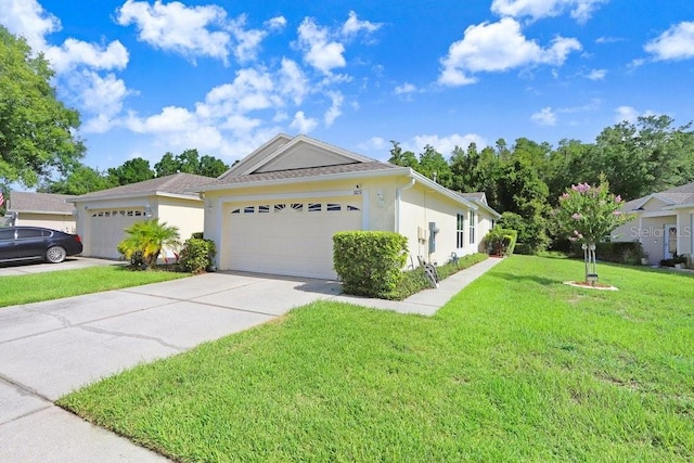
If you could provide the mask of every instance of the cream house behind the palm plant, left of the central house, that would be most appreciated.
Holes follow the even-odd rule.
[[[179,229],[181,241],[202,232],[203,201],[192,190],[214,181],[192,173],[175,173],[153,180],[73,196],[77,233],[82,237],[83,256],[120,258],[117,246],[127,227],[150,218]],[[166,249],[166,257],[174,257]]]

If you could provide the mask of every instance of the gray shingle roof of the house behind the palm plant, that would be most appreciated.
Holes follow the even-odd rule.
[[[75,198],[78,198],[79,201],[90,201],[103,197],[136,196],[138,194],[145,196],[155,193],[197,196],[197,194],[192,193],[193,190],[196,190],[198,187],[207,183],[214,183],[215,180],[216,179],[211,177],[196,176],[194,173],[174,173],[171,176],[145,180],[143,182],[95,191],[81,196],[75,196]]]

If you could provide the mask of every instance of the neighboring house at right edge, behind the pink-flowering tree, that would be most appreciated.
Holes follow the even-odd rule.
[[[634,220],[613,232],[613,241],[638,241],[657,265],[674,254],[694,249],[694,182],[630,201],[621,208],[635,213]]]

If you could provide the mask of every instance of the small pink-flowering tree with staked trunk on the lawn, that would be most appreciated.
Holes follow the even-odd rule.
[[[617,227],[632,220],[633,215],[619,210],[624,200],[609,192],[609,182],[604,175],[600,176],[596,185],[571,185],[558,201],[555,216],[560,230],[570,241],[581,244],[586,282],[594,283],[590,275],[595,275],[595,279],[597,275],[595,245]]]

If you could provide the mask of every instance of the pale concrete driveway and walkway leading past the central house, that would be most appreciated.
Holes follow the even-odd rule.
[[[487,259],[402,303],[343,296],[331,281],[219,272],[1,308],[0,461],[166,461],[53,401],[319,299],[430,316],[500,260]]]

